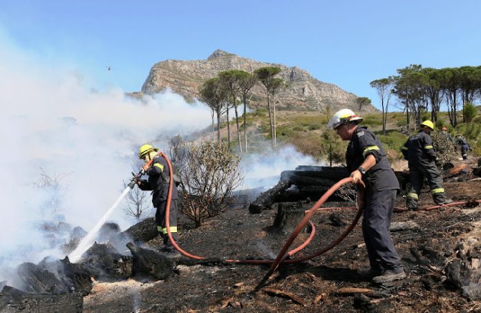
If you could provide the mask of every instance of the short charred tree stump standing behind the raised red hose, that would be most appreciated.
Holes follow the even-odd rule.
[[[277,206],[276,218],[270,231],[292,233],[305,215],[303,204],[299,202],[281,202]]]

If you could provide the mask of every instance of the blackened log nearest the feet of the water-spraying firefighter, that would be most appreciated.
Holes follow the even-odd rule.
[[[176,262],[159,252],[127,243],[132,253],[132,276],[140,281],[158,281],[169,278],[176,269]]]

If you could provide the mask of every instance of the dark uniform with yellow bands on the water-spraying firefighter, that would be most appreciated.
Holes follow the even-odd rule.
[[[140,189],[152,191],[153,207],[155,211],[155,224],[160,236],[164,238],[164,245],[172,248],[167,236],[165,224],[165,209],[167,206],[167,195],[169,193],[169,166],[167,161],[160,155],[155,155],[151,167],[146,171],[149,180],[141,180]],[[177,199],[178,193],[176,186],[172,187],[172,198],[170,204],[169,225],[172,237],[177,241]]]

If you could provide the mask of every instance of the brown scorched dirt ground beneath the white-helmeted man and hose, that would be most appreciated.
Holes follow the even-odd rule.
[[[446,182],[444,187],[455,201],[481,199],[480,181]],[[424,207],[433,205],[428,190],[420,201]],[[312,204],[306,204],[306,208]],[[405,208],[402,195],[396,207]],[[299,255],[328,245],[346,228],[332,225],[329,216],[333,213],[347,223],[355,216],[351,210],[319,212],[312,218],[317,227],[315,237]],[[207,220],[198,229],[181,218],[179,243],[182,249],[199,256],[274,258],[290,235],[268,230],[275,214],[274,209],[249,214],[247,208],[238,207]],[[357,269],[368,266],[359,222],[334,249],[312,260],[281,267],[255,293],[266,266],[179,265],[178,274],[166,281],[95,282],[92,293],[84,297],[84,312],[481,312],[480,301],[461,296],[459,290],[443,283],[440,267],[420,264],[411,252],[426,245],[438,245],[444,251],[444,245],[455,243],[481,221],[480,207],[404,211],[393,216],[393,222],[408,220],[419,228],[392,233],[408,275],[403,281],[379,286],[357,274]],[[301,234],[292,247],[307,236]],[[158,240],[152,240],[147,246],[155,248],[158,244]],[[367,288],[375,295],[341,294],[341,288],[346,287]],[[275,295],[275,290],[283,294]]]

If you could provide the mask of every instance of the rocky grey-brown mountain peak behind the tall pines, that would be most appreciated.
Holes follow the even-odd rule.
[[[349,93],[334,84],[321,82],[312,77],[307,70],[297,66],[272,64],[245,57],[239,57],[223,50],[216,50],[207,59],[178,61],[168,59],[152,66],[149,76],[142,86],[141,93],[133,93],[135,97],[152,94],[171,88],[172,91],[191,100],[198,97],[198,86],[206,79],[216,76],[222,70],[238,69],[249,73],[262,66],[279,66],[282,77],[287,83],[285,91],[277,97],[279,109],[322,110],[326,104],[331,111],[340,108],[352,108],[358,111],[355,102],[357,95]],[[265,91],[260,84],[252,91],[250,106],[265,105]],[[377,111],[374,106],[366,106],[363,111]]]

